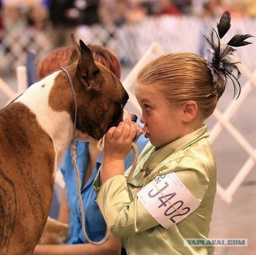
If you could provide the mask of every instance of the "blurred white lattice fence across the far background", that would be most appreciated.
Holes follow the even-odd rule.
[[[200,20],[196,17],[147,17],[140,23],[116,26],[80,26],[76,29],[77,39],[91,44],[103,45],[117,53],[125,62],[136,63],[152,42],[158,42],[165,52],[188,51],[205,54],[202,34],[209,34],[216,27],[217,20]],[[227,38],[235,33],[256,35],[256,20],[248,18],[232,19],[232,28]],[[44,57],[52,48],[51,34],[54,31],[37,31],[34,28],[12,30],[2,36],[0,42],[0,69],[24,65],[26,51],[34,49],[37,59]],[[245,64],[256,66],[255,45],[242,47],[239,56]]]

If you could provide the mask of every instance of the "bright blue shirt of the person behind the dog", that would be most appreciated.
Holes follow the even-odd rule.
[[[139,152],[145,147],[148,139],[143,136],[139,137],[137,146]],[[96,150],[95,150],[96,148]],[[61,171],[65,181],[65,195],[69,208],[69,226],[70,239],[68,244],[87,243],[81,226],[81,215],[79,201],[77,197],[76,174],[73,163],[71,161],[71,149],[65,153],[65,161],[61,167]],[[125,159],[125,169],[131,166],[133,162],[133,151],[131,151]],[[94,160],[96,159],[96,161]],[[80,169],[80,178],[82,183],[82,201],[86,215],[86,232],[93,241],[100,241],[104,238],[106,232],[106,224],[102,217],[99,207],[95,202],[97,195],[92,186],[97,176],[98,170],[102,162],[102,152],[97,150],[97,143],[77,142],[77,164]],[[61,212],[60,212],[61,213]]]

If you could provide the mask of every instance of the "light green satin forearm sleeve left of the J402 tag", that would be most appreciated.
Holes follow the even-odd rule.
[[[131,201],[126,179],[123,175],[109,178],[99,187],[97,204],[113,236],[126,236],[159,225],[136,198]],[[100,189],[100,190],[99,190]]]

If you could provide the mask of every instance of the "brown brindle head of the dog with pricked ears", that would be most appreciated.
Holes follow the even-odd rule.
[[[71,54],[68,70],[77,95],[77,138],[83,134],[99,140],[112,126],[117,126],[124,118],[136,122],[134,114],[125,114],[124,106],[128,94],[119,79],[99,62],[94,62],[91,50],[80,40],[78,45],[72,37],[74,51]],[[68,82],[64,72],[57,79]],[[74,103],[68,85],[71,119],[74,120]]]

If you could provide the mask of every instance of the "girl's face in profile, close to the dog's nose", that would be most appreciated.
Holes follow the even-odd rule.
[[[145,137],[160,148],[182,137],[182,107],[171,107],[154,88],[136,84],[135,95],[142,108],[141,122]]]

